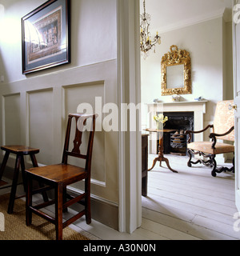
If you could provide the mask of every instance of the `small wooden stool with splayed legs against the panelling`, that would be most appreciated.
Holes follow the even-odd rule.
[[[39,150],[35,148],[31,148],[29,146],[22,146],[22,145],[10,145],[10,146],[1,146],[2,150],[6,151],[6,154],[4,155],[2,166],[0,168],[0,180],[2,180],[2,174],[6,167],[6,162],[8,160],[8,157],[10,153],[16,154],[16,162],[14,167],[14,178],[10,193],[10,202],[8,205],[8,214],[12,214],[14,210],[14,200],[16,199],[16,190],[18,186],[18,173],[21,166],[22,170],[22,182],[24,186],[24,190],[26,191],[26,178],[25,178],[25,164],[24,164],[24,155],[30,155],[31,161],[33,163],[34,167],[38,167],[38,162],[35,158],[35,154],[38,154]],[[19,198],[19,197],[18,197]]]

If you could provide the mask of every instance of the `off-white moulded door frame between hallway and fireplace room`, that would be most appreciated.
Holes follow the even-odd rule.
[[[122,103],[141,102],[140,68],[140,10],[139,0],[117,0],[118,33],[118,110]],[[118,179],[120,232],[132,233],[142,222],[142,141],[141,113],[136,130],[130,131],[130,118],[119,115]],[[126,123],[127,122],[127,123]],[[127,126],[127,131],[121,127]]]

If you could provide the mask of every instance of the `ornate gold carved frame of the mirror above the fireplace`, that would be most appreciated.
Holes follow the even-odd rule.
[[[182,86],[168,88],[167,86],[167,67],[183,65]],[[162,57],[162,96],[173,94],[191,94],[191,59],[190,53],[186,50],[178,50],[178,46],[170,46],[170,52]]]

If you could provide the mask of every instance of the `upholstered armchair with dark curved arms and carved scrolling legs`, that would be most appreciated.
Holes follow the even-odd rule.
[[[234,171],[234,159],[233,167],[230,169],[227,167],[217,169],[217,162],[215,160],[216,154],[234,153],[234,145],[226,142],[217,142],[217,140],[234,142],[234,110],[231,107],[233,105],[233,100],[218,102],[213,125],[206,126],[205,129],[199,131],[186,130],[186,134],[189,135],[187,144],[188,154],[190,156],[187,163],[189,167],[191,167],[192,164],[201,162],[206,166],[213,167],[211,172],[213,177],[216,177],[216,173],[222,173],[222,171]],[[211,141],[190,142],[192,138],[191,134],[199,134],[210,128],[212,129],[212,132],[209,134]],[[199,154],[203,159],[198,159],[198,161],[193,162],[191,161],[192,154]]]

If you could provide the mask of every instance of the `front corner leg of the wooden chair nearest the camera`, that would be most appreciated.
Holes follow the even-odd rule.
[[[62,192],[62,184],[58,184],[55,189],[56,240],[62,240]]]

